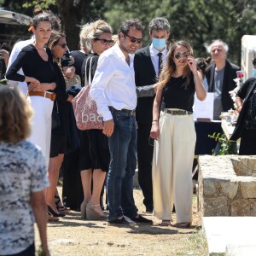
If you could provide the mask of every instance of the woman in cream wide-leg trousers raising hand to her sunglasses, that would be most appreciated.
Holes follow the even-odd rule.
[[[197,71],[193,49],[178,41],[169,49],[154,99],[150,136],[153,156],[154,216],[170,225],[175,204],[177,226],[192,223],[192,165],[195,153],[194,95],[203,101],[206,90]]]

